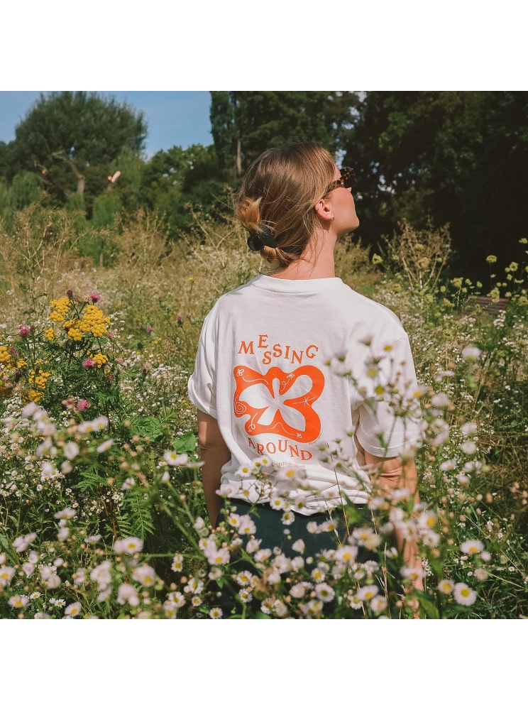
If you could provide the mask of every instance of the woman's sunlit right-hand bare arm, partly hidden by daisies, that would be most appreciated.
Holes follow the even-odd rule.
[[[414,503],[419,503],[418,474],[414,461],[410,461],[404,466],[397,457],[383,459],[365,451],[356,436],[354,436],[354,441],[356,442],[356,447],[358,447],[358,463],[363,464],[363,461],[365,461],[365,464],[374,471],[380,471],[379,484],[385,493],[390,493],[395,488],[408,488],[411,495],[414,494]],[[404,542],[402,532],[395,530],[395,537],[397,549],[402,552]],[[422,560],[419,558],[416,542],[406,542],[403,559],[407,567],[422,569]],[[415,581],[414,587],[416,589],[424,589],[422,580]]]

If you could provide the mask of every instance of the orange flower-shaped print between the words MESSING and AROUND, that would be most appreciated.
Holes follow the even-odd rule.
[[[290,373],[270,367],[261,374],[244,365],[234,368],[233,375],[235,415],[248,415],[248,434],[277,434],[304,443],[317,439],[321,420],[312,405],[324,388],[317,367],[303,365]]]

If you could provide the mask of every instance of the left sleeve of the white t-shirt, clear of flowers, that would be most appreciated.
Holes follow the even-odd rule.
[[[216,415],[216,344],[214,342],[214,329],[211,312],[207,315],[202,325],[202,332],[198,342],[194,372],[189,377],[187,392],[189,399],[201,412]]]

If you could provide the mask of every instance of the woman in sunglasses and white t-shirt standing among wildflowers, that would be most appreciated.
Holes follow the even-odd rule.
[[[279,506],[254,477],[241,476],[255,459],[304,472],[311,490],[292,491],[292,511],[298,530],[316,537],[311,544],[319,548],[335,546],[335,532],[307,535],[308,520],[335,518],[344,496],[370,512],[361,466],[379,468],[385,488],[406,486],[418,501],[414,463],[404,468],[397,454],[419,440],[419,422],[404,425],[387,404],[373,406],[369,398],[372,383],[393,376],[396,366],[400,383],[417,387],[409,339],[390,310],[335,275],[336,242],[359,225],[352,184],[353,171],[340,171],[314,143],[273,148],[248,168],[238,217],[270,274],[219,298],[204,320],[189,379],[211,523],[222,488],[238,512],[258,507],[257,537],[286,553],[283,511],[273,509]],[[337,466],[336,447],[345,461]],[[298,530],[290,530],[293,540]],[[397,544],[401,549],[402,540]],[[420,564],[416,552],[405,546],[413,567]]]

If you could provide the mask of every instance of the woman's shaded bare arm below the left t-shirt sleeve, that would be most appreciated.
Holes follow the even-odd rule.
[[[205,503],[211,525],[216,524],[223,499],[216,495],[220,488],[221,467],[231,459],[231,452],[222,438],[219,425],[214,417],[198,410],[198,441],[202,466]]]

